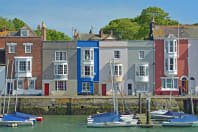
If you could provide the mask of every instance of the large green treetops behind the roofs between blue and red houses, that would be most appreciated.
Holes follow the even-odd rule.
[[[178,22],[171,20],[169,14],[159,7],[143,9],[140,16],[135,18],[116,19],[109,22],[103,29],[104,33],[113,30],[120,40],[144,40],[149,38],[150,23],[152,16],[156,25],[177,25]]]

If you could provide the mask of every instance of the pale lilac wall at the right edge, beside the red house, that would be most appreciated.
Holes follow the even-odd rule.
[[[195,78],[195,91],[193,93],[198,94],[198,40],[188,40],[188,66],[189,66],[189,80],[191,77]],[[191,87],[190,82],[188,83],[189,87]]]

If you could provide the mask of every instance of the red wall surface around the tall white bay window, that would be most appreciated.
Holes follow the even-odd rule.
[[[179,58],[177,59],[177,76],[178,86],[182,85],[180,80],[182,76],[188,76],[188,40],[179,41]],[[155,94],[169,95],[170,91],[161,91],[162,80],[160,77],[164,75],[164,40],[155,40]],[[179,91],[174,91],[172,94],[177,95]]]

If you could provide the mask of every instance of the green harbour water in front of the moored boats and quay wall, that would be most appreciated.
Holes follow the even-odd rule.
[[[194,128],[87,128],[87,116],[44,116],[34,126],[0,127],[0,132],[197,132]]]

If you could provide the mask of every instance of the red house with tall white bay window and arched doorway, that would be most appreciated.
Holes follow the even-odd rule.
[[[184,26],[152,25],[155,48],[155,94],[188,93],[188,39]]]

